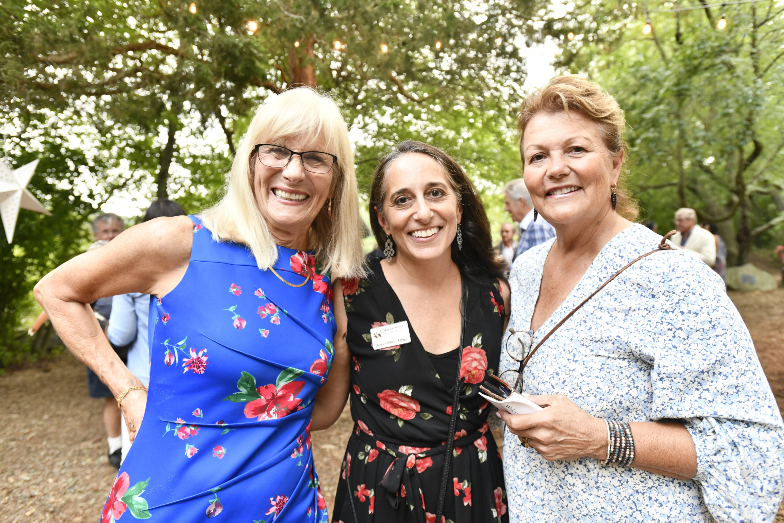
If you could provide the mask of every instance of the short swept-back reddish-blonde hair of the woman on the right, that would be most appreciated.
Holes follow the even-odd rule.
[[[596,122],[610,154],[615,158],[623,154],[623,162],[626,162],[627,147],[626,140],[623,139],[626,118],[623,117],[623,110],[615,98],[602,91],[597,83],[575,74],[553,78],[542,89],[537,89],[524,100],[520,119],[517,121],[521,154],[525,127],[536,114],[565,112],[569,115],[570,110],[579,111],[589,120]],[[618,178],[618,187],[615,187],[615,194],[618,197],[615,212],[627,220],[637,220],[640,209],[631,197],[629,182],[623,169]]]

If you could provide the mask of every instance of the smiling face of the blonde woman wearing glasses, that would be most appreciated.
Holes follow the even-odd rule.
[[[307,142],[291,138],[277,140],[276,145],[292,151],[324,151],[323,140]],[[254,176],[253,191],[256,203],[275,241],[296,249],[307,249],[310,225],[323,209],[332,187],[335,166],[325,174],[310,173],[303,169],[299,156],[294,156],[285,167],[267,167],[256,155],[251,159]],[[295,246],[295,244],[298,244]]]

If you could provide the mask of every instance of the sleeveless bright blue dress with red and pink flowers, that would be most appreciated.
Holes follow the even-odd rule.
[[[332,286],[308,252],[214,242],[197,216],[185,276],[150,306],[150,390],[101,523],[327,521],[310,448],[332,365]]]

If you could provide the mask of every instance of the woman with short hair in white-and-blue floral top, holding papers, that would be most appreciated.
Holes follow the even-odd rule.
[[[662,240],[629,220],[618,104],[555,78],[525,101],[519,128],[525,184],[557,236],[510,274],[506,339],[514,329],[544,343],[527,362],[505,351],[500,367],[521,370],[522,391],[546,407],[501,413],[510,521],[773,521],[784,425],[710,267],[655,252],[568,317]],[[610,427],[624,427],[612,441]],[[633,452],[608,456],[619,444]]]

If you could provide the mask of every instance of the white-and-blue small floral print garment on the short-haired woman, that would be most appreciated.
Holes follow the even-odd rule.
[[[616,234],[534,343],[661,238],[639,224]],[[514,329],[530,329],[553,243],[514,263]],[[517,363],[503,351],[500,367]],[[524,392],[565,394],[603,419],[681,419],[695,442],[697,475],[679,480],[591,458],[548,462],[505,430],[510,521],[775,518],[784,496],[782,417],[724,283],[694,256],[656,252],[624,271],[539,348],[524,371]]]

